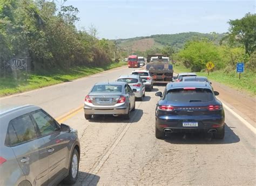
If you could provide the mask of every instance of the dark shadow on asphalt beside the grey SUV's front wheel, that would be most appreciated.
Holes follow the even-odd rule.
[[[80,185],[92,185],[92,186],[96,186],[99,182],[99,176],[95,175],[95,174],[90,174],[90,173],[85,173],[82,171],[78,172],[78,179],[76,181],[75,184],[73,184],[74,186],[80,186]],[[61,182],[60,184],[58,184],[58,186],[64,186],[64,185],[68,185],[65,184],[64,181]]]

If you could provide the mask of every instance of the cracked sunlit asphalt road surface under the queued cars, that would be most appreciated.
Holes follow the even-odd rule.
[[[154,87],[136,103],[130,120],[119,117],[84,119],[84,97],[96,82],[114,81],[133,69],[121,67],[77,81],[0,98],[6,104],[35,104],[78,129],[81,157],[76,185],[255,185],[255,133],[225,109],[224,140],[211,134],[154,136]],[[217,90],[217,89],[215,89]],[[218,91],[218,90],[217,90]],[[69,114],[66,114],[69,113]],[[66,115],[65,115],[66,114]]]

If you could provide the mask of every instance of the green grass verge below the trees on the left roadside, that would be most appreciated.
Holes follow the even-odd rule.
[[[127,65],[126,62],[110,63],[102,67],[72,67],[68,70],[51,69],[41,71],[41,73],[32,73],[29,75],[28,80],[17,80],[14,77],[0,77],[0,96],[16,94],[49,85],[68,82],[80,77],[89,76],[99,73],[104,70],[109,70],[116,67]]]

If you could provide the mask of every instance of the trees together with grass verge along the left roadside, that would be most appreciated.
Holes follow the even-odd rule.
[[[0,96],[124,65],[113,62],[119,61],[114,41],[98,39],[93,25],[78,31],[79,10],[56,2],[0,1]],[[11,67],[21,57],[29,59],[27,76]]]

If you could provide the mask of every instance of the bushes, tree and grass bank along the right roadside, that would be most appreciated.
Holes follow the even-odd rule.
[[[256,15],[247,13],[244,18],[230,20],[229,24],[230,33],[219,44],[206,38],[187,41],[184,48],[173,55],[180,61],[174,70],[195,71],[205,76],[205,65],[212,61],[215,67],[210,71],[210,79],[256,95]],[[240,80],[237,62],[245,63]]]

